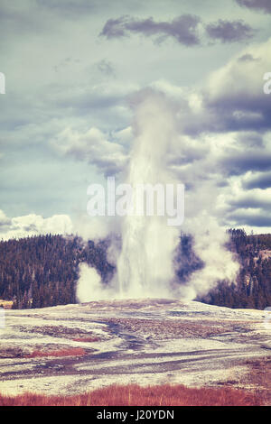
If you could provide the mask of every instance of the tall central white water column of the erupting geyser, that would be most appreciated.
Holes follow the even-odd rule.
[[[166,153],[174,137],[174,121],[164,97],[146,96],[135,110],[135,141],[126,182],[173,182],[166,167]],[[133,207],[143,207],[133,191]],[[168,226],[165,216],[131,214],[123,219],[122,251],[117,261],[119,293],[123,297],[168,297],[173,280],[173,251],[180,226]]]

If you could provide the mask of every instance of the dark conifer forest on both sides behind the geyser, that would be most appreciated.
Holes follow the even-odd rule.
[[[96,268],[104,284],[111,280],[116,270],[107,259],[109,244],[108,239],[85,243],[78,236],[62,235],[0,241],[0,299],[13,300],[14,309],[76,303],[79,263]],[[229,308],[271,306],[271,235],[230,229],[227,248],[240,263],[237,281],[218,281],[197,300]],[[193,252],[192,235],[182,234],[174,265],[180,284],[204,266]]]

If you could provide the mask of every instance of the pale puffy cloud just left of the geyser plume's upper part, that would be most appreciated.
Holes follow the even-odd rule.
[[[95,127],[85,133],[67,127],[57,134],[51,145],[63,155],[96,165],[106,175],[122,171],[127,161],[124,146],[107,141],[106,135]]]

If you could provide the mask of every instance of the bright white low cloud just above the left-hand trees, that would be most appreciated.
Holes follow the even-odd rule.
[[[72,223],[68,215],[53,215],[44,218],[41,215],[25,215],[23,217],[6,217],[0,210],[0,238],[21,238],[31,235],[46,235],[51,233],[70,235]]]

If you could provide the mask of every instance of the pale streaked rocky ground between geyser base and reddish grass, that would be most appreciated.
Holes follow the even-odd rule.
[[[70,395],[112,383],[224,384],[270,400],[271,312],[177,300],[5,310],[0,392]]]

